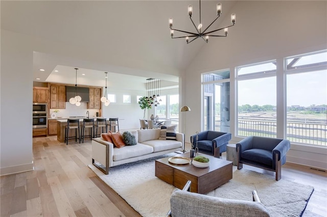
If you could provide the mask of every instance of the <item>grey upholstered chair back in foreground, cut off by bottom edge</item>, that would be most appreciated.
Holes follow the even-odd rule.
[[[175,216],[270,216],[260,202],[223,199],[175,189],[171,199]]]

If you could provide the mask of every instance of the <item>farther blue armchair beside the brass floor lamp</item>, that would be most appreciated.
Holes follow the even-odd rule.
[[[231,134],[228,132],[218,132],[213,130],[205,130],[198,134],[198,149],[203,154],[220,157],[221,153],[226,151],[226,145],[231,140]],[[196,134],[191,135],[193,147],[196,147]]]

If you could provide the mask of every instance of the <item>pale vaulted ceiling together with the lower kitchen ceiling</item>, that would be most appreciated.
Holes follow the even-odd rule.
[[[201,2],[204,25],[216,18],[217,3]],[[1,1],[0,4],[1,29],[95,50],[92,60],[103,60],[107,53],[114,53],[106,64],[100,64],[100,61],[35,51],[34,79],[38,77],[41,82],[75,84],[76,67],[80,68],[79,74],[86,74],[78,75],[86,83],[90,80],[95,84],[104,83],[104,71],[111,73],[109,77],[124,82],[131,79],[145,83],[149,77],[178,82],[178,76],[201,47],[210,46],[201,39],[186,44],[184,39],[170,38],[169,17],[174,19],[174,28],[194,32],[187,9],[193,5],[192,18],[197,24],[198,1]],[[234,1],[222,2],[223,13],[213,29],[229,24],[220,22],[230,16],[233,4]],[[45,71],[39,71],[41,68]],[[58,73],[54,72],[56,69]]]

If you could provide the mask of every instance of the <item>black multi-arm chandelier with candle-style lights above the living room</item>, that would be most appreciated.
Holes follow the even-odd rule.
[[[192,19],[192,14],[193,14],[192,5],[189,5],[189,7],[188,7],[190,19],[191,19],[191,21],[192,21],[192,23],[193,23],[193,25],[194,25],[197,32],[196,33],[191,33],[191,32],[186,32],[186,31],[182,31],[182,30],[173,29],[173,18],[171,17],[171,18],[169,18],[169,28],[170,28],[170,36],[172,38],[185,38],[186,43],[189,44],[189,43],[191,43],[192,41],[194,41],[197,38],[202,38],[206,43],[208,43],[209,37],[226,37],[227,36],[228,27],[235,25],[236,15],[235,14],[230,15],[232,25],[228,25],[228,26],[225,26],[223,28],[207,32],[209,27],[220,17],[221,4],[219,3],[219,4],[217,4],[217,18],[212,23],[210,23],[207,26],[207,28],[205,28],[204,31],[202,31],[202,26],[203,25],[201,23],[201,0],[199,0],[199,2],[200,2],[200,9],[199,9],[199,11],[200,11],[200,22],[199,22],[198,26],[195,25],[195,23],[194,23],[194,21]],[[212,35],[212,33],[215,33],[215,32],[220,31],[220,30],[224,30],[224,35]],[[181,36],[181,37],[173,37],[174,36],[174,31],[186,33],[188,35]],[[190,41],[190,38],[193,38],[193,39]]]

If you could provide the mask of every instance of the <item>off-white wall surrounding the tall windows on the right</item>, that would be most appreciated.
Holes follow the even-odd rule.
[[[326,4],[325,1],[240,1],[235,4],[230,13],[236,13],[236,26],[229,28],[226,38],[211,38],[183,76],[185,104],[192,110],[192,119],[186,119],[186,141],[192,132],[201,130],[201,73],[230,68],[230,129],[235,135],[234,68],[326,49]],[[228,22],[229,18],[223,21]],[[231,142],[241,139],[233,137]],[[325,148],[292,144],[287,160],[326,169],[326,156]]]

